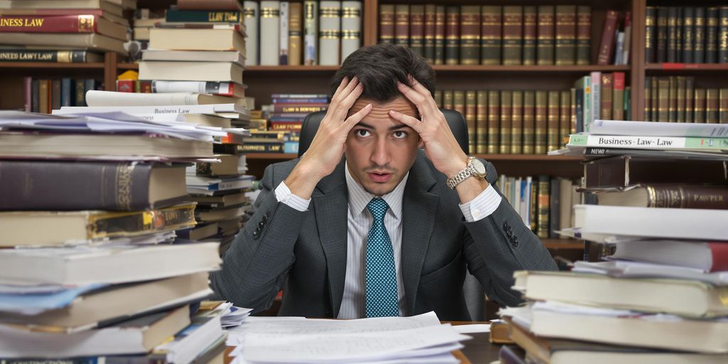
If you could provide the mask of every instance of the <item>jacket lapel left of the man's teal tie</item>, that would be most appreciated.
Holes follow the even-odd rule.
[[[326,257],[333,317],[339,316],[347,273],[347,184],[342,160],[336,170],[323,178],[312,196],[318,233]]]

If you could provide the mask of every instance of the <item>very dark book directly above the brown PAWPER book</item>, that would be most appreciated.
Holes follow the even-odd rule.
[[[679,170],[681,173],[674,173]],[[728,165],[711,159],[660,159],[631,155],[595,159],[584,164],[587,189],[625,188],[652,183],[725,184]]]

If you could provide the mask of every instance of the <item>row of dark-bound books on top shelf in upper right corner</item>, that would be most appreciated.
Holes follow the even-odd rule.
[[[728,63],[728,7],[646,7],[646,63]]]

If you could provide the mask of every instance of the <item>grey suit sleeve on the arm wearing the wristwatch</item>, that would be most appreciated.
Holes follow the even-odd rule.
[[[496,169],[490,162],[486,167],[488,183],[497,191]],[[520,293],[510,289],[513,272],[558,269],[541,240],[526,227],[502,194],[494,213],[464,225],[468,270],[480,280],[488,298],[501,306],[515,306],[523,301]]]

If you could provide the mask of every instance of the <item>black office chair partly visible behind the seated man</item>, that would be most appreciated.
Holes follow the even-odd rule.
[[[456,141],[460,144],[460,148],[468,154],[468,143],[467,143],[467,124],[465,118],[458,111],[449,109],[440,109],[445,114],[445,119],[450,125],[453,135],[455,135]],[[317,111],[306,116],[304,124],[301,126],[301,137],[298,141],[298,157],[304,155],[311,141],[316,135],[319,124],[325,116],[326,111]],[[465,303],[467,304],[467,310],[470,312],[470,318],[476,321],[486,320],[486,293],[483,289],[483,285],[473,277],[470,272],[467,272],[465,276],[465,282],[463,284],[463,291],[465,294]]]

